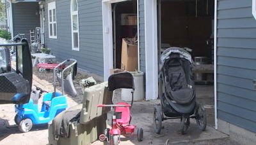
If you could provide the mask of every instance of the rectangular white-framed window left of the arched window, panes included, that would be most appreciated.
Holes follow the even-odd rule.
[[[57,38],[56,3],[48,4],[49,38]]]

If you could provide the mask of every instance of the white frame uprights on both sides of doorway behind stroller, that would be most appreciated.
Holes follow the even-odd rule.
[[[145,64],[146,64],[146,99],[157,99],[158,64],[157,64],[157,0],[144,0],[145,10]],[[217,0],[214,0],[214,120],[217,120]]]

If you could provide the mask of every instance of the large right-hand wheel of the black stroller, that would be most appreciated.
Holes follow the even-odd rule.
[[[205,108],[202,104],[199,104],[196,107],[196,124],[198,125],[199,129],[204,131],[207,125],[207,116]]]

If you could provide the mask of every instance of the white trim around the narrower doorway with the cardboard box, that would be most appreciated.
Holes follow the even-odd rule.
[[[122,1],[129,1],[129,0],[102,0],[104,81],[108,81],[108,77],[110,76],[109,69],[113,69],[113,24],[112,24],[111,4],[122,2]],[[138,3],[138,0],[137,0],[137,3]],[[137,11],[138,11],[138,7],[139,6],[137,6]],[[140,44],[139,40],[138,40],[138,44]],[[138,48],[138,51],[139,50],[140,50],[140,47]],[[138,61],[138,65],[140,66],[140,61]]]

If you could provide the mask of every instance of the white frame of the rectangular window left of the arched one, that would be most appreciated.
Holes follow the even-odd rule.
[[[55,9],[55,22],[53,21],[53,10]],[[52,22],[50,22],[50,10],[52,11]],[[52,24],[52,36],[51,36],[51,32],[50,32],[50,24]],[[54,33],[54,24],[56,24],[56,36],[53,35]],[[57,11],[56,11],[56,2],[52,2],[48,4],[48,29],[49,29],[49,38],[52,39],[57,39]]]

